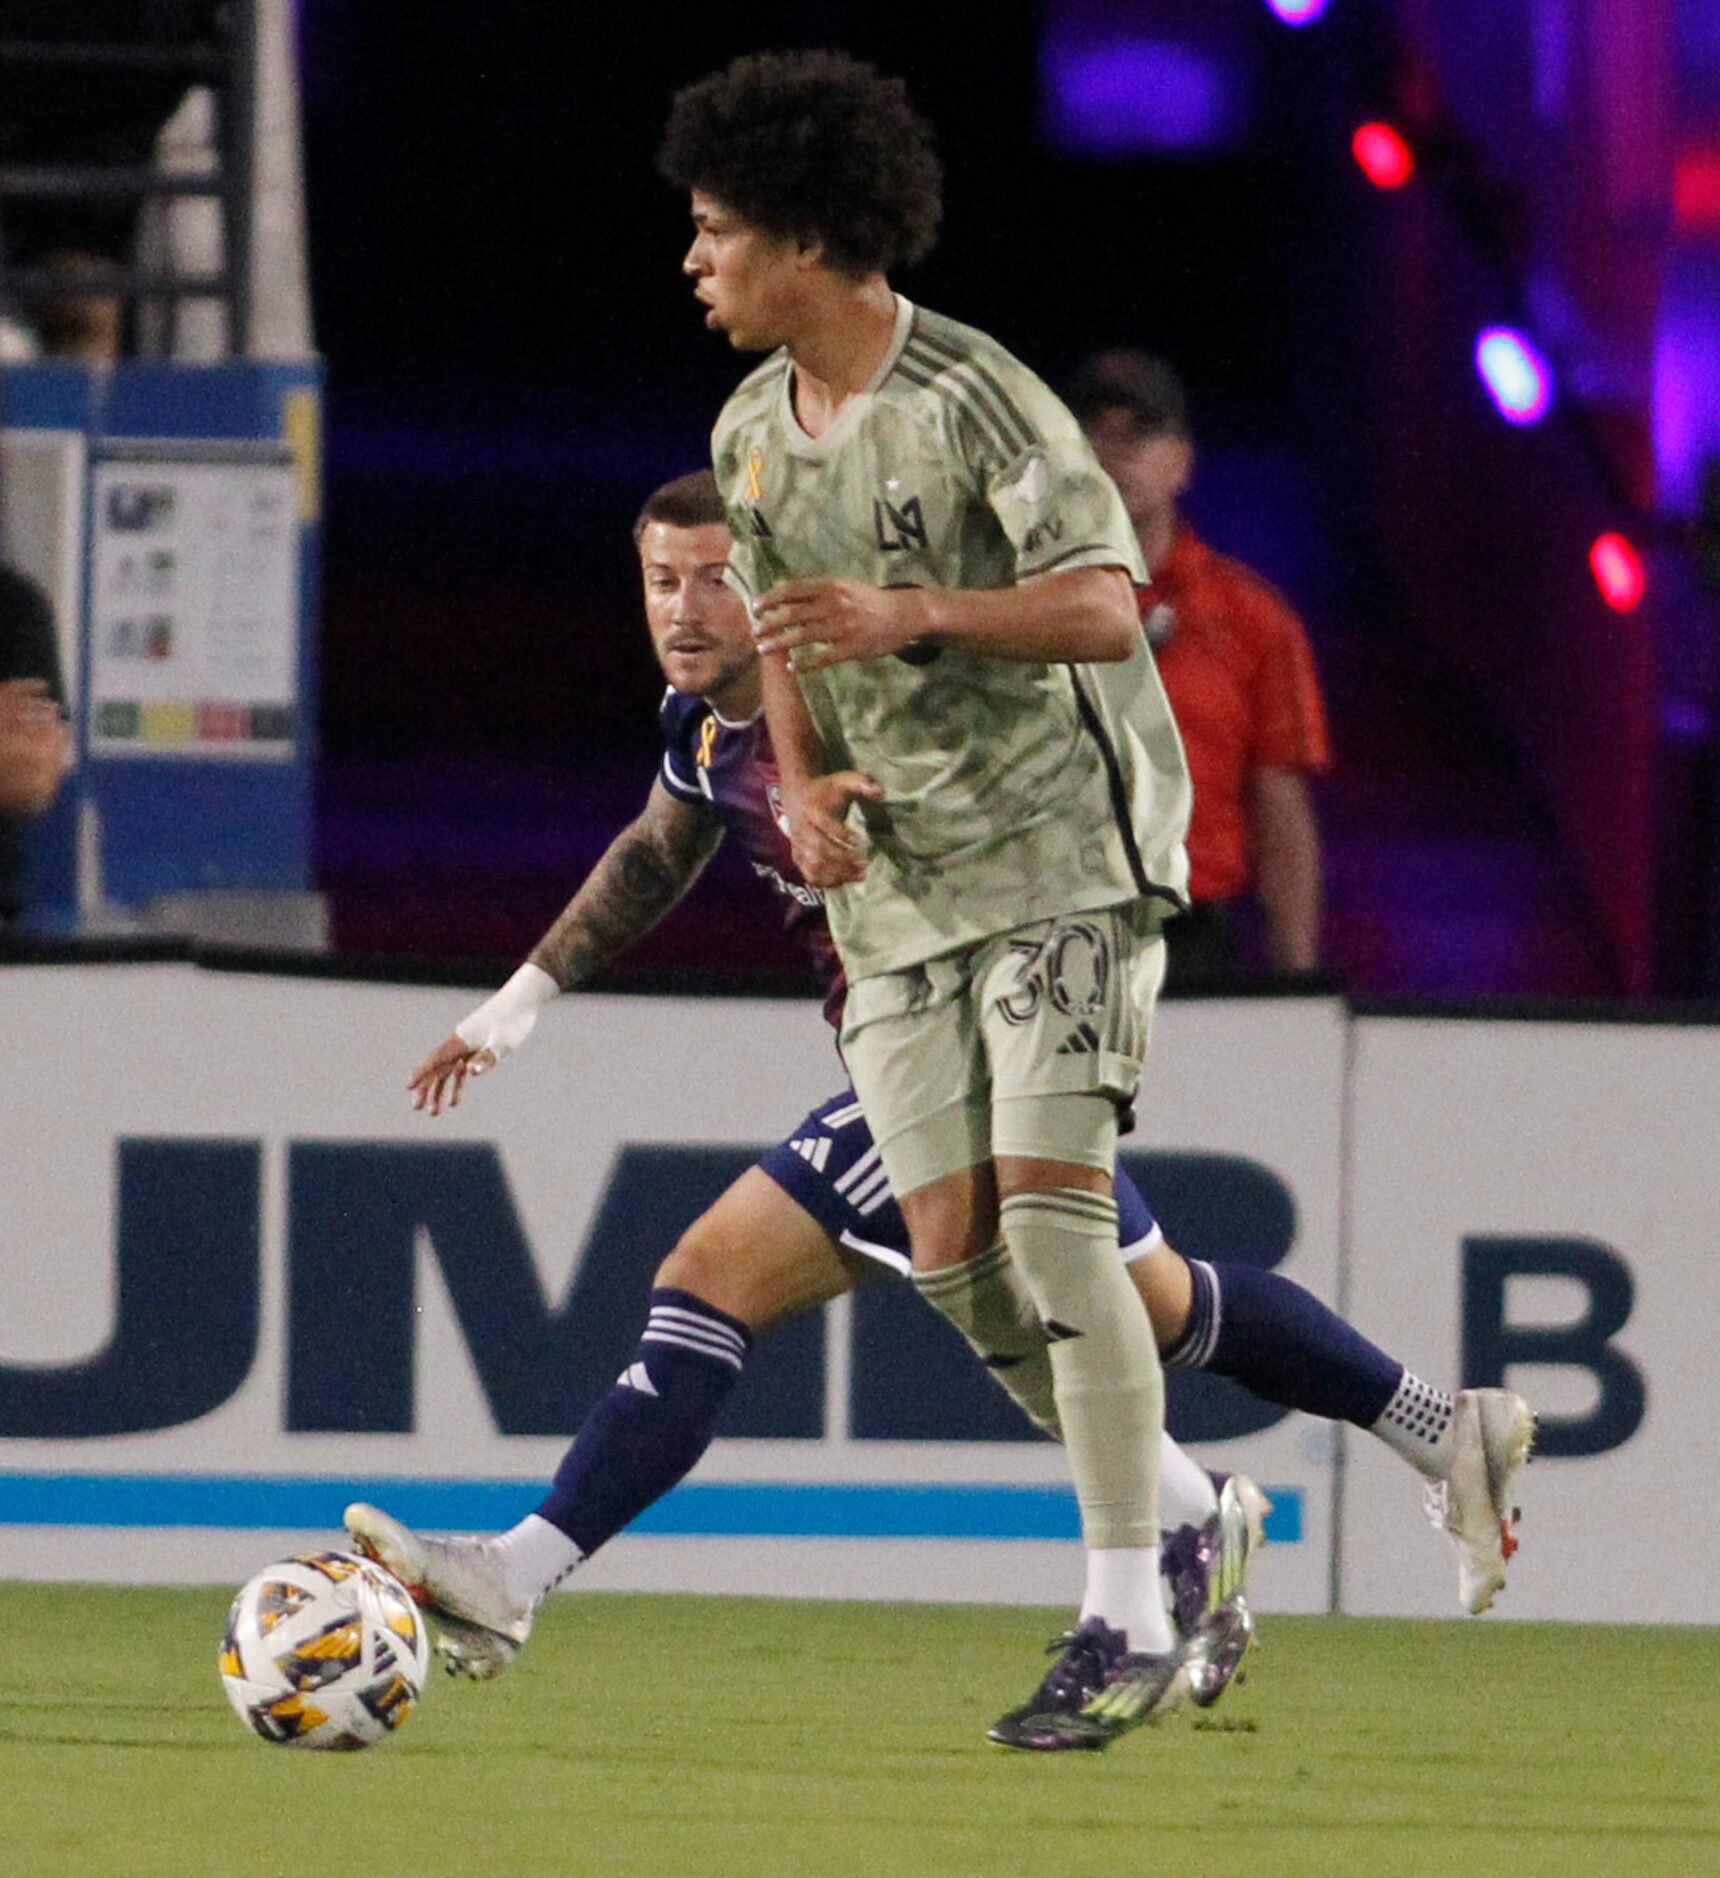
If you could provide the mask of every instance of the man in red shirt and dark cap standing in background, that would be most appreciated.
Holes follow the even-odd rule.
[[[1251,890],[1269,965],[1313,971],[1320,963],[1320,834],[1307,779],[1329,755],[1301,620],[1275,588],[1206,546],[1177,515],[1194,441],[1183,387],[1164,361],[1098,353],[1065,396],[1140,537],[1153,577],[1142,603],[1147,639],[1194,777],[1194,909],[1166,928],[1170,982],[1236,971],[1232,905]]]

